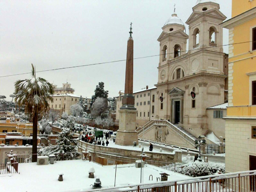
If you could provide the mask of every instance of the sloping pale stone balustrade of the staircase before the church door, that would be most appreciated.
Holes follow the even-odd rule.
[[[195,146],[195,140],[197,139],[194,135],[186,131],[184,128],[180,127],[179,125],[173,125],[169,121],[166,120],[154,120],[147,122],[144,126],[138,128],[136,131],[138,133],[139,138],[143,136],[143,132],[146,133],[147,131],[151,130],[152,128],[157,127],[168,127],[172,129],[172,131],[175,131],[175,133],[182,137],[184,140],[189,142],[191,145]],[[143,131],[144,130],[144,131]]]

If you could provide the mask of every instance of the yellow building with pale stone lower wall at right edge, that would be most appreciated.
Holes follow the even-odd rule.
[[[229,29],[229,82],[226,171],[256,169],[256,0],[232,0]]]

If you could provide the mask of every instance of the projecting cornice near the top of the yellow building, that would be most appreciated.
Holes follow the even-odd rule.
[[[242,23],[245,23],[254,18],[256,18],[256,7],[231,18],[230,20],[227,20],[220,25],[226,29],[232,29],[233,27],[241,25]]]

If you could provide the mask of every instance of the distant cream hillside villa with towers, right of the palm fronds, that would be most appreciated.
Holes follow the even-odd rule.
[[[57,87],[56,84],[52,84],[52,87],[54,88],[54,95],[53,102],[50,102],[50,108],[60,111],[60,114],[67,112],[70,115],[71,105],[78,103],[80,96],[73,94],[75,90],[71,88],[71,84],[68,82],[63,83],[62,87]],[[92,99],[83,97],[84,101],[86,98],[89,109]]]

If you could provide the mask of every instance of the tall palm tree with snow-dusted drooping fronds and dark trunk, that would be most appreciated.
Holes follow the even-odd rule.
[[[49,101],[53,101],[53,87],[43,78],[35,77],[35,67],[32,64],[32,78],[15,82],[15,102],[24,105],[28,116],[33,122],[32,154],[37,154],[37,125],[38,116],[44,116],[49,111]],[[37,161],[37,155],[33,155],[32,162]]]

